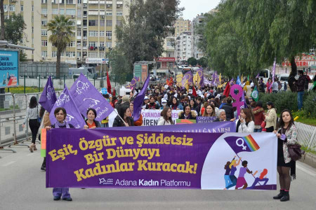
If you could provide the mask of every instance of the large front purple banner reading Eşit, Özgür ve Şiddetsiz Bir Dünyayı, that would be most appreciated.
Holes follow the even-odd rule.
[[[47,132],[46,187],[223,190],[228,188],[224,166],[236,155],[230,148],[235,139],[227,138],[239,135],[52,129]],[[247,160],[249,169],[265,169],[268,174],[265,183],[245,174],[247,189],[275,190],[275,134],[251,136],[260,149],[239,155]],[[242,166],[237,167],[235,176],[239,171]]]

